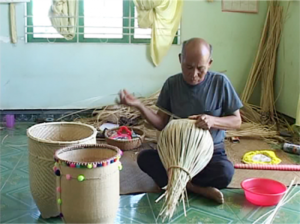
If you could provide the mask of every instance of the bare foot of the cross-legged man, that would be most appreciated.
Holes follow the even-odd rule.
[[[219,190],[217,190],[216,188],[212,188],[212,187],[202,188],[202,187],[192,185],[191,183],[188,183],[186,185],[186,188],[187,188],[188,191],[191,191],[195,194],[199,194],[201,196],[204,196],[205,198],[212,199],[212,200],[216,201],[219,204],[224,203],[223,194]]]

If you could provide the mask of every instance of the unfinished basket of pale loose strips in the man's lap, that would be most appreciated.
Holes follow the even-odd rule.
[[[168,176],[166,191],[157,199],[165,197],[159,216],[163,220],[167,217],[170,219],[180,197],[186,216],[186,184],[210,161],[213,154],[212,137],[209,131],[197,128],[194,120],[172,120],[160,133],[157,149]]]

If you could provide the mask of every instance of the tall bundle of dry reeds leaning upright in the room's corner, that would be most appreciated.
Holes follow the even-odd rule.
[[[256,115],[254,117],[256,122],[258,121],[262,124],[275,123],[273,82],[276,67],[276,55],[282,27],[282,6],[279,6],[279,1],[277,0],[268,1],[266,19],[261,33],[257,54],[241,94],[243,103],[248,103],[258,80],[261,81],[260,119],[258,119]],[[251,110],[253,108],[247,109]]]

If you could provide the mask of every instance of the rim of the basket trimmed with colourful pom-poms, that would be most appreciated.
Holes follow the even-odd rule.
[[[69,152],[69,151],[73,151],[73,150],[84,150],[84,149],[88,149],[88,148],[95,148],[95,150],[98,149],[109,149],[109,150],[113,150],[114,152],[116,152],[116,154],[112,157],[100,160],[100,161],[93,161],[93,162],[80,162],[80,161],[68,161],[68,160],[63,160],[59,158],[59,154],[65,153],[65,152]],[[116,146],[111,146],[111,145],[107,145],[107,144],[79,144],[79,145],[73,145],[73,146],[68,146],[68,147],[64,147],[62,149],[58,149],[54,152],[54,161],[57,163],[65,163],[67,165],[70,164],[74,164],[74,165],[80,165],[80,166],[87,166],[88,164],[103,164],[104,162],[106,162],[106,165],[109,165],[113,162],[116,162],[117,160],[119,160],[122,156],[122,151],[117,148]],[[99,167],[99,166],[97,166]]]

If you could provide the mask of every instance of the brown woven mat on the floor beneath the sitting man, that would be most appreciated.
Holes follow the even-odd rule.
[[[145,148],[148,147],[145,146]],[[242,139],[240,143],[226,145],[228,159],[233,163],[240,163],[242,156],[248,151],[265,149],[275,151],[276,156],[282,160],[281,164],[294,164],[286,153],[281,150],[273,150],[268,144],[260,140]],[[136,157],[137,153],[126,151],[121,158],[123,170],[120,172],[120,194],[159,192],[160,190],[152,179],[138,168]],[[240,182],[251,177],[270,178],[285,185],[288,185],[296,177],[300,182],[300,175],[293,171],[235,169],[228,188],[240,188]]]

